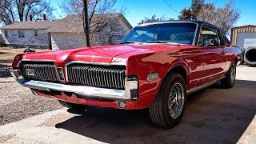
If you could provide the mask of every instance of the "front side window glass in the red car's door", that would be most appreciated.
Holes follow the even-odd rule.
[[[220,40],[218,38],[218,30],[210,26],[202,26],[199,42],[199,46],[220,46]]]

